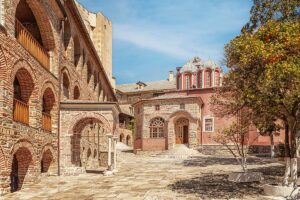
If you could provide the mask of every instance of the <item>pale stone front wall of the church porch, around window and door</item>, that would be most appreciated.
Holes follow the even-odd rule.
[[[155,106],[159,105],[159,110]],[[184,105],[184,108],[181,106]],[[201,102],[194,98],[180,98],[167,100],[142,101],[135,105],[135,133],[137,139],[142,138],[142,150],[162,150],[174,147],[175,124],[181,118],[189,121],[188,143],[190,147],[198,145],[198,121],[201,119]],[[163,118],[164,138],[150,138],[150,121],[154,118]],[[139,146],[136,144],[135,146]]]

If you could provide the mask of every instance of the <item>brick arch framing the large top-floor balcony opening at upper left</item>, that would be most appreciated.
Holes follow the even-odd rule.
[[[55,38],[49,14],[47,12],[47,7],[43,3],[44,1],[14,0],[14,10],[12,13],[13,16],[16,16],[17,6],[20,1],[26,1],[29,8],[31,9],[38,24],[44,47],[47,50],[53,50],[55,48]]]

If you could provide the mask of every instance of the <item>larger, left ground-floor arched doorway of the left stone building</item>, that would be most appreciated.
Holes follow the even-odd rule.
[[[13,155],[11,165],[11,192],[20,190],[24,183],[26,183],[26,177],[28,171],[32,167],[33,160],[30,151],[25,147],[20,147]]]

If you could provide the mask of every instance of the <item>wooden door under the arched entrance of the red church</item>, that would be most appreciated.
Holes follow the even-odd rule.
[[[189,120],[186,118],[179,118],[175,122],[175,137],[176,144],[189,143]]]

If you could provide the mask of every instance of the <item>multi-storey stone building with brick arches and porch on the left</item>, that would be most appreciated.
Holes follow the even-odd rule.
[[[103,37],[74,0],[0,1],[0,195],[107,165],[120,108],[111,23],[96,15]]]

